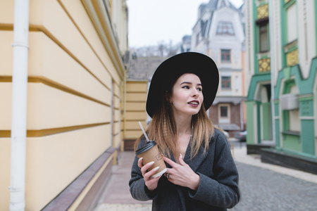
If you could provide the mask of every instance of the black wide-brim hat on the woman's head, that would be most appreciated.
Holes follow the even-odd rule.
[[[209,109],[218,90],[218,68],[209,56],[186,52],[168,58],[155,70],[147,94],[147,113],[150,117],[153,117],[161,106],[166,87],[185,73],[193,73],[199,77],[204,95],[204,107],[206,110]]]

